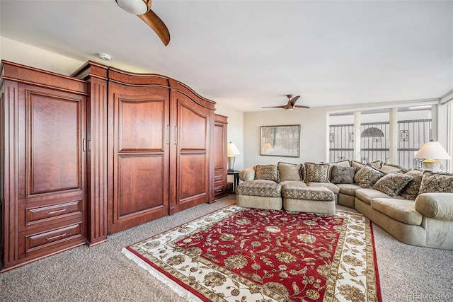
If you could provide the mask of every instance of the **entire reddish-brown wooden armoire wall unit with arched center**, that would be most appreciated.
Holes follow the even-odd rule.
[[[2,271],[221,195],[215,103],[184,83],[96,62],[1,68]]]

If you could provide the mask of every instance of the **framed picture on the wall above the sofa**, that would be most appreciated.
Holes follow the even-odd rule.
[[[299,157],[300,124],[260,127],[260,155]]]

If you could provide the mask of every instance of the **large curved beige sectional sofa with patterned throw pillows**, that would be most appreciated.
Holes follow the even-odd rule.
[[[453,250],[453,174],[342,161],[256,165],[241,170],[239,178],[239,206],[282,209],[284,198],[277,192],[285,185],[326,187],[338,204],[356,209],[403,243]],[[268,190],[258,190],[261,196],[244,192],[252,183],[265,183]]]

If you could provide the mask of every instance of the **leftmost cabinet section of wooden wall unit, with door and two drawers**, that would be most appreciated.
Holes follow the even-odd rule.
[[[11,62],[2,67],[1,182],[8,189],[1,192],[1,262],[6,270],[85,243],[88,93],[86,82],[78,79]]]

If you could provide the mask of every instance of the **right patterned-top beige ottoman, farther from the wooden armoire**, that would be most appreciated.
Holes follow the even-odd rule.
[[[335,194],[326,187],[282,187],[283,207],[287,211],[335,214]]]

